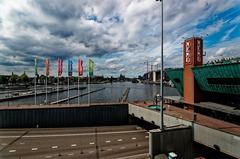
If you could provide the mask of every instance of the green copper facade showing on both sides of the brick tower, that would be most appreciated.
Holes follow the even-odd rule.
[[[203,65],[192,68],[198,87],[202,91],[240,95],[240,63]],[[167,76],[183,95],[183,69],[167,69]]]

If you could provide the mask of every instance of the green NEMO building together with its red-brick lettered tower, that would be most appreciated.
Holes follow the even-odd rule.
[[[203,40],[184,41],[183,68],[167,69],[186,109],[206,108],[240,114],[240,58],[203,64]]]

